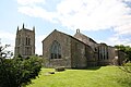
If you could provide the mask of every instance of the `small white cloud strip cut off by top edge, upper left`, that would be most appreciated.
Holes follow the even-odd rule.
[[[17,3],[22,5],[32,5],[35,3],[45,3],[45,0],[17,0]]]

